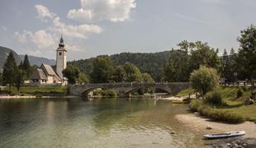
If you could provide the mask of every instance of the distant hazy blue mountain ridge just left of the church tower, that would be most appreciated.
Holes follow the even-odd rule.
[[[20,54],[20,57],[23,60],[25,55]],[[40,67],[40,65],[42,63],[48,64],[48,65],[55,65],[55,63],[56,63],[56,61],[54,59],[36,57],[36,56],[31,56],[31,55],[28,55],[28,59],[29,59],[31,65],[36,65],[38,67]]]

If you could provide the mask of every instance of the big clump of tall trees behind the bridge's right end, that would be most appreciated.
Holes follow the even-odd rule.
[[[207,43],[182,41],[180,49],[172,50],[171,57],[164,65],[165,81],[188,81],[189,74],[201,65],[221,69],[218,49],[211,48]]]

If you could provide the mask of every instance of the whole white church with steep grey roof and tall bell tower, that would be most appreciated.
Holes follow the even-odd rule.
[[[59,48],[56,50],[55,68],[42,63],[35,72],[32,73],[29,81],[31,86],[65,86],[68,84],[67,78],[62,71],[67,67],[67,50],[64,48],[64,39],[61,35]]]

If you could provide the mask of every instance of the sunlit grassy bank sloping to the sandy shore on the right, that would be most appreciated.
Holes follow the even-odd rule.
[[[238,91],[241,91],[238,95]],[[217,90],[223,99],[224,104],[213,106],[203,101],[193,100],[189,105],[192,111],[218,121],[228,123],[242,123],[253,121],[256,123],[256,104],[245,105],[245,99],[250,96],[249,88],[238,86],[220,86]]]

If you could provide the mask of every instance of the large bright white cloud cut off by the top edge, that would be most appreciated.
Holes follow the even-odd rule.
[[[126,21],[135,0],[80,0],[81,8],[70,10],[67,17],[81,22]]]

